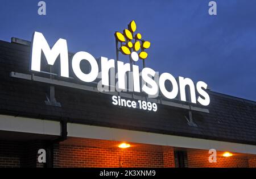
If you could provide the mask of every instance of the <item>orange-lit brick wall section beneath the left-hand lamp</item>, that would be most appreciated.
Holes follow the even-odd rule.
[[[173,148],[163,152],[159,145],[130,143],[118,148],[118,141],[69,138],[55,145],[55,167],[164,167],[174,166]]]

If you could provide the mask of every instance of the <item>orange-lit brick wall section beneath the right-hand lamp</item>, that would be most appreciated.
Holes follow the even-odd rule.
[[[234,154],[232,157],[223,157],[217,152],[217,163],[209,163],[209,154],[205,150],[187,152],[188,167],[249,167],[247,156]]]

